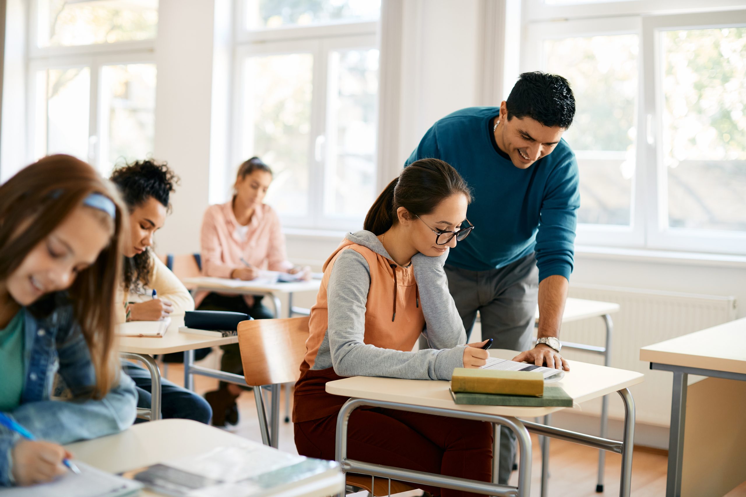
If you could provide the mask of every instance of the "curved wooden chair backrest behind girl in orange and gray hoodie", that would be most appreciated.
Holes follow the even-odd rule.
[[[238,344],[246,384],[298,381],[306,355],[308,317],[258,319],[238,325]]]

